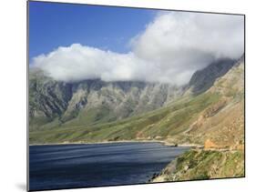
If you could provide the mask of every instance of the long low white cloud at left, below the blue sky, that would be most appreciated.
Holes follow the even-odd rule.
[[[60,81],[101,78],[104,81],[147,81],[151,65],[133,53],[117,54],[97,48],[73,44],[58,47],[48,55],[36,56],[33,66]]]

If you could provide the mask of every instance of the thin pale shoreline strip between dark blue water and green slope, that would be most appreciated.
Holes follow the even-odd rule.
[[[118,140],[118,141],[98,141],[98,142],[62,142],[62,143],[48,143],[48,144],[29,144],[32,146],[61,146],[61,145],[92,145],[92,144],[117,144],[117,143],[160,143],[163,146],[169,147],[202,147],[197,144],[173,144],[166,140]]]

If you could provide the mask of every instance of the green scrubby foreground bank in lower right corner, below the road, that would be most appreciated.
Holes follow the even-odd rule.
[[[189,150],[152,181],[244,177],[243,151]]]

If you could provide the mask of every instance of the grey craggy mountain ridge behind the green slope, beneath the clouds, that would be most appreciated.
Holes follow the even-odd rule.
[[[79,118],[80,112],[92,114],[92,119],[86,117],[88,122],[84,123],[97,122],[97,116],[101,116],[104,110],[111,113],[107,122],[111,118],[117,120],[147,112],[164,106],[173,97],[179,96],[183,89],[159,83],[103,82],[99,79],[70,84],[56,82],[42,74],[30,77],[29,83],[30,118],[41,114],[49,121],[58,117],[61,123]],[[63,105],[60,106],[58,101],[62,101]],[[33,107],[38,103],[41,106]]]

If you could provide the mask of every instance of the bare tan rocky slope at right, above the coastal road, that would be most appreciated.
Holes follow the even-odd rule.
[[[190,124],[187,136],[201,145],[206,145],[206,148],[243,148],[243,56],[228,73],[216,79],[206,93],[217,93],[220,95],[220,100],[200,113],[200,116]],[[212,143],[214,145],[211,145]]]

